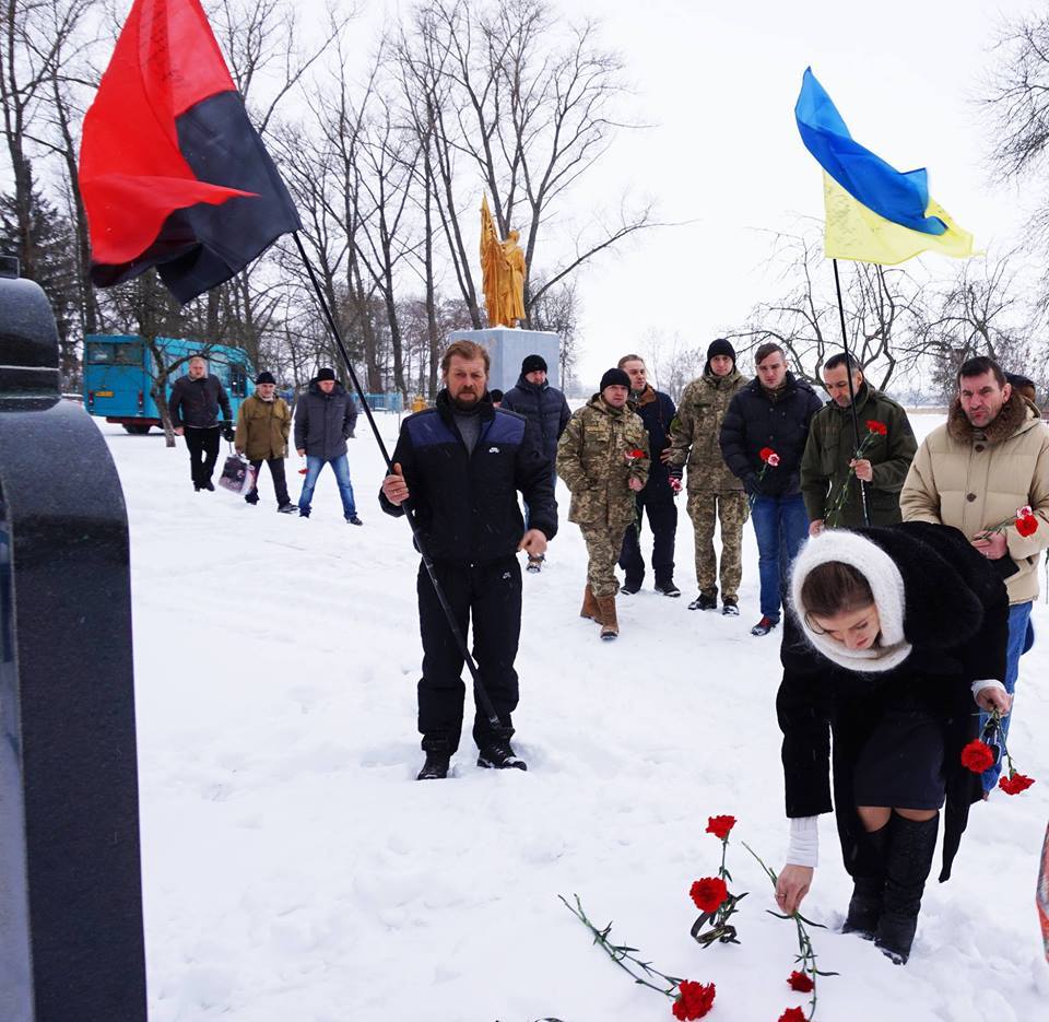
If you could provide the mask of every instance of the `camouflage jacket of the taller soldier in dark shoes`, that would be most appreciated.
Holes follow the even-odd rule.
[[[670,463],[688,466],[689,493],[743,489],[721,457],[718,436],[729,402],[746,383],[746,377],[733,368],[728,376],[704,373],[682,391],[677,414],[670,424]]]

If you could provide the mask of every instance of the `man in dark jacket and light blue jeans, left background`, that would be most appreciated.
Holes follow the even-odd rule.
[[[306,458],[306,479],[298,498],[299,518],[309,517],[317,477],[330,465],[339,484],[343,516],[350,525],[364,525],[357,517],[346,457],[346,439],[353,436],[356,422],[353,396],[335,379],[333,369],[321,369],[295,406],[295,449],[300,458]]]

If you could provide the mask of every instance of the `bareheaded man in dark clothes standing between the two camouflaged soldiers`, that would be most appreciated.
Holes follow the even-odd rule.
[[[652,530],[652,573],[655,589],[663,596],[681,596],[674,585],[674,536],[677,532],[675,491],[670,485],[670,424],[677,409],[673,399],[648,383],[648,371],[640,355],[624,355],[618,366],[630,377],[630,409],[640,416],[648,432],[648,449],[652,463],[648,481],[634,498],[637,517],[623,536],[620,567],[626,573],[620,592],[633,596],[645,580],[645,559],[641,556],[640,526],[643,513],[648,515]]]

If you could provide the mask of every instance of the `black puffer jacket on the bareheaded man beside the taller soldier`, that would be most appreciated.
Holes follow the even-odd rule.
[[[775,400],[759,379],[751,380],[732,398],[721,423],[721,455],[749,493],[793,496],[801,492],[801,456],[809,423],[821,408],[823,401],[815,390],[793,373],[787,374],[786,387]],[[779,465],[769,467],[758,482],[765,447],[779,455]]]

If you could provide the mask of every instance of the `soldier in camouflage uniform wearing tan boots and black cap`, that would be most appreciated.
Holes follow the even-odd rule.
[[[602,638],[620,634],[615,562],[651,463],[648,432],[626,404],[629,393],[629,376],[609,369],[600,392],[571,416],[557,443],[557,474],[571,491],[568,520],[579,526],[590,557],[580,616],[597,621]]]

